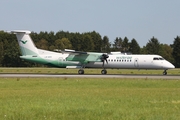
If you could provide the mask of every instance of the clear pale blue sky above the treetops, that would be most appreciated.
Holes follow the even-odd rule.
[[[152,37],[173,44],[180,36],[180,0],[1,0],[0,30],[98,32],[133,38],[140,47]]]

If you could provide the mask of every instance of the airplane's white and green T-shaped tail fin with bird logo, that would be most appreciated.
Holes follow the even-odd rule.
[[[25,30],[14,30],[11,33],[16,34],[22,55],[37,55],[38,49],[34,45],[30,33],[31,31]]]

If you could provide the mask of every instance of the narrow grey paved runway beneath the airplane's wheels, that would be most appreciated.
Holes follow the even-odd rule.
[[[145,78],[145,79],[179,79],[180,75],[101,75],[101,74],[0,74],[0,78]]]

